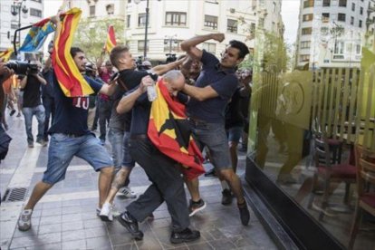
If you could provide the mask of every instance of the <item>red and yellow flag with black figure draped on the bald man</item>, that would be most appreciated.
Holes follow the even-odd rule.
[[[156,85],[158,98],[152,102],[149,115],[149,139],[171,159],[182,164],[188,179],[205,172],[203,158],[191,136],[185,106],[172,99],[163,80]]]

